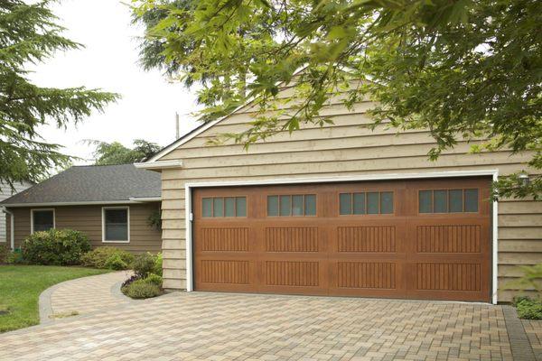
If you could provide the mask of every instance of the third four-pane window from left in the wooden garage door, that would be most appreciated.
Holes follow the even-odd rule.
[[[393,192],[370,191],[339,194],[339,213],[345,215],[391,214]]]

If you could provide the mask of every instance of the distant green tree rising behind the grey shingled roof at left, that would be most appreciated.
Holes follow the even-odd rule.
[[[86,142],[96,146],[93,153],[96,165],[142,162],[161,149],[158,144],[143,139],[135,139],[133,148],[127,148],[119,142],[106,143],[94,140]]]

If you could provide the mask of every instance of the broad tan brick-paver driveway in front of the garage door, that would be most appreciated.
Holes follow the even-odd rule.
[[[485,304],[176,292],[0,335],[1,360],[512,359]]]

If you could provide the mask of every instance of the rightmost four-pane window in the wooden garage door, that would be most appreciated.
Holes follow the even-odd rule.
[[[478,212],[478,190],[420,190],[420,213]]]

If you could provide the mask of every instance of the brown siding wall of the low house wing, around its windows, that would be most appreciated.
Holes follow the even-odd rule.
[[[93,247],[112,245],[134,253],[160,252],[161,233],[147,224],[147,219],[160,203],[130,204],[130,243],[103,243],[101,206],[54,207],[57,228],[76,229],[89,236]],[[45,207],[51,208],[51,207]],[[30,235],[31,208],[10,208],[15,215],[15,247]],[[9,220],[9,219],[8,219]],[[11,230],[10,230],[11,231]]]

